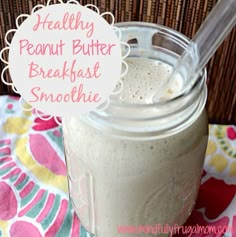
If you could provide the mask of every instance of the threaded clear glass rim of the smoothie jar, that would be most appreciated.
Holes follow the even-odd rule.
[[[151,28],[158,30],[158,32],[171,36],[172,39],[176,39],[177,44],[181,44],[183,48],[186,48],[191,42],[182,33],[158,24],[122,22],[115,24],[115,26],[127,29],[130,29],[130,27],[143,27],[143,29]],[[183,91],[177,97],[165,101],[155,101],[150,104],[131,104],[116,102],[110,99],[110,104],[106,109],[92,111],[84,120],[103,130],[112,130],[117,134],[125,132],[126,137],[127,132],[130,133],[131,137],[134,137],[146,136],[145,134],[147,133],[149,134],[148,136],[160,136],[170,131],[177,131],[176,127],[183,127],[181,124],[187,117],[188,119],[190,116],[196,117],[193,116],[194,113],[199,116],[204,109],[207,98],[206,78],[206,68],[204,68],[189,90]],[[172,109],[168,109],[167,107]],[[192,108],[190,109],[190,107]],[[186,113],[187,109],[189,110],[188,113]],[[166,118],[173,119],[175,115],[185,118],[169,126],[168,122],[165,122]],[[193,119],[191,119],[191,121],[192,120]],[[185,124],[189,123],[186,122]]]

